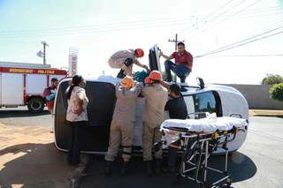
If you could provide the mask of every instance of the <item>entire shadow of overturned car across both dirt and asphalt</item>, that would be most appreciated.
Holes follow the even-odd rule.
[[[9,159],[10,158],[10,159]],[[7,160],[9,159],[9,160]],[[211,165],[223,167],[224,156],[212,156]],[[68,187],[68,177],[74,167],[67,165],[65,153],[57,151],[54,143],[21,144],[0,150],[0,186],[11,187],[12,184],[22,184],[24,187]],[[176,184],[176,177],[162,174],[159,177],[147,177],[144,173],[145,165],[142,157],[134,157],[130,163],[130,175],[120,176],[121,162],[114,163],[111,177],[104,177],[103,156],[93,155],[87,176],[83,178],[80,187],[123,187],[123,188],[150,188],[150,187],[198,187],[187,178],[182,178]],[[254,177],[256,165],[245,154],[236,152],[229,159],[229,172],[233,182],[240,182]],[[211,179],[216,177],[210,174]],[[118,186],[119,185],[119,186]]]

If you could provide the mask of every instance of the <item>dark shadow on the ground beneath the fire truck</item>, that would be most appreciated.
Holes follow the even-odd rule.
[[[0,110],[0,118],[7,118],[7,117],[38,117],[43,115],[50,115],[49,110],[43,110],[40,113],[32,113],[29,112],[27,109],[7,109],[7,110]]]

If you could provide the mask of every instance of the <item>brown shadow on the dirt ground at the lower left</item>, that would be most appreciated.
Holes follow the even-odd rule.
[[[0,187],[68,187],[74,167],[54,143],[21,144],[0,150]]]

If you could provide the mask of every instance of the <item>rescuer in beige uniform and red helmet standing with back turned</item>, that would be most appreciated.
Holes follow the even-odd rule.
[[[164,122],[164,107],[168,100],[167,89],[161,85],[162,74],[159,71],[151,71],[149,74],[151,83],[142,89],[145,97],[145,106],[142,114],[142,150],[143,161],[146,162],[147,174],[152,174],[152,146],[160,141],[162,134],[160,125]],[[156,173],[160,173],[162,148],[155,151]]]

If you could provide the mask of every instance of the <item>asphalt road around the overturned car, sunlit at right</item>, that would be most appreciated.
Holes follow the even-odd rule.
[[[250,117],[249,133],[244,145],[229,160],[233,187],[283,187],[283,118]],[[0,123],[14,125],[52,126],[51,115],[47,112],[33,115],[23,109],[0,109]],[[213,156],[213,165],[220,166],[222,156]],[[162,174],[147,177],[141,157],[134,157],[130,164],[131,174],[119,175],[120,161],[114,164],[111,177],[103,177],[102,156],[92,156],[87,176],[80,187],[197,187],[183,178],[175,184],[175,177]],[[215,177],[212,175],[212,177]]]

